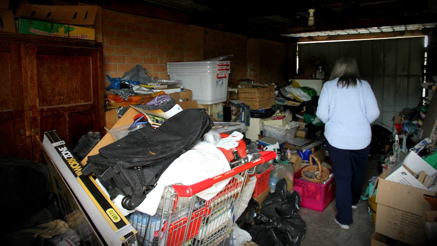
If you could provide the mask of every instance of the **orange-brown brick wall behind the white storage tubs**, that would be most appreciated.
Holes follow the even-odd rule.
[[[152,76],[168,79],[166,63],[200,61],[233,55],[228,86],[240,79],[256,83],[282,82],[286,45],[247,39],[241,34],[194,25],[102,10],[103,81],[106,75],[122,77],[135,65]]]

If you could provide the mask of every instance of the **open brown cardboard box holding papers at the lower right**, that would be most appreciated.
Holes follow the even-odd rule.
[[[430,204],[423,195],[436,193],[385,180],[387,172],[381,174],[376,184],[375,232],[411,245],[427,245],[423,222]]]

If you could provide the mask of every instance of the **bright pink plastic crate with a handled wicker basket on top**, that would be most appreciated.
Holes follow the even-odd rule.
[[[323,212],[323,210],[334,200],[335,182],[334,177],[326,184],[317,184],[314,182],[300,180],[302,177],[301,170],[295,172],[293,187],[302,198],[301,206]]]

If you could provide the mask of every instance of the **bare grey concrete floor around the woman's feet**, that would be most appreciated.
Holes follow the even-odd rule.
[[[378,163],[369,158],[367,172],[363,179],[362,194],[369,186],[369,179],[378,176]],[[341,229],[334,221],[336,215],[335,200],[325,208],[323,212],[317,212],[301,207],[299,215],[306,223],[307,231],[301,246],[313,245],[354,245],[368,246],[375,230],[372,216],[368,213],[368,202],[361,201],[356,209],[353,209],[353,221],[349,230]]]

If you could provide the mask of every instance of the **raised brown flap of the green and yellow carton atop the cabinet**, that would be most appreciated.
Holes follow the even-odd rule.
[[[21,4],[16,17],[75,25],[92,25],[97,13],[95,5],[50,6]]]

